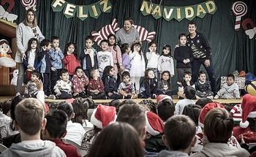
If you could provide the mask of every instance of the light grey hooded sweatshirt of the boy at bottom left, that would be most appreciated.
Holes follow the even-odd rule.
[[[29,140],[20,143],[13,143],[12,146],[4,150],[0,156],[44,156],[57,157],[66,156],[61,148],[57,147],[54,142],[43,140]]]

